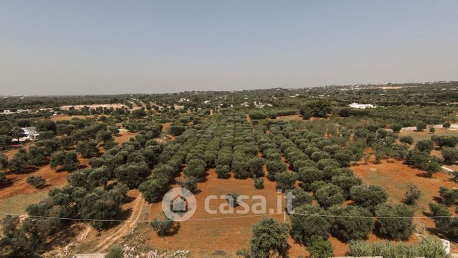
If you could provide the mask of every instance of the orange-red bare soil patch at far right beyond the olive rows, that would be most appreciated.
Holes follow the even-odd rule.
[[[413,184],[420,189],[422,196],[417,201],[415,216],[428,216],[429,203],[436,202],[439,198],[439,187],[458,187],[458,184],[450,180],[448,173],[435,173],[432,178],[427,178],[424,171],[410,168],[402,162],[388,163],[383,160],[381,164],[360,164],[352,166],[355,175],[362,178],[368,185],[380,185],[387,190],[388,201],[399,203],[403,201],[408,184]],[[429,218],[415,218],[415,227],[420,234],[435,234],[434,222]],[[410,241],[417,241],[418,236],[413,236]],[[376,237],[371,236],[371,241]],[[452,243],[452,250],[458,251],[457,243]]]

